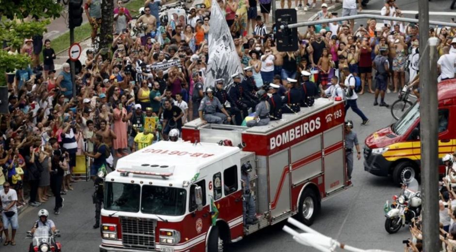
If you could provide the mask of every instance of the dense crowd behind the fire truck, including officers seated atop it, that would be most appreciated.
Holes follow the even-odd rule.
[[[232,76],[234,85],[228,92],[226,79],[205,82],[211,1],[194,4],[188,16],[167,23],[159,16],[160,2],[145,2],[144,15],[134,26],[144,32],[134,36],[130,11],[119,0],[112,45],[86,51],[74,86],[70,65],[64,63],[56,72],[55,52],[49,40],[43,48],[41,34],[26,39],[22,48],[4,48],[33,59],[33,65],[6,73],[9,113],[0,115],[2,217],[13,230],[17,215],[7,217],[5,212],[17,213],[22,205],[35,207],[54,196],[54,214],[60,213],[61,195],[73,189],[78,156],[91,160],[89,170],[95,176],[100,167],[112,165],[114,156],[169,137],[177,140],[182,125],[193,119],[241,125],[250,109],[257,111],[250,118],[255,122],[247,126],[264,125],[280,119],[282,112],[311,106],[318,96],[346,100],[345,110],[352,108],[366,125],[369,119],[358,109],[358,95],[375,93],[374,106],[388,107],[385,93],[418,83],[417,24],[384,21],[379,26],[370,19],[355,30],[353,21],[333,22],[337,13],[329,13],[323,1],[317,16],[327,22],[300,32],[298,50],[279,52],[277,28],[269,19],[271,0],[218,0],[244,67],[243,73]],[[343,0],[342,16],[356,15],[358,4]],[[315,8],[315,0],[311,6],[306,0],[305,5]],[[95,43],[102,18],[100,0],[87,0],[84,8]],[[394,0],[388,0],[382,15],[402,14]],[[431,28],[429,34],[440,39],[440,79],[454,78],[456,30]],[[16,196],[5,196],[4,201],[9,194]],[[6,241],[13,243],[14,233]]]

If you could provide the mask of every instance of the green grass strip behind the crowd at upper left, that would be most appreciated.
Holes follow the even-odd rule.
[[[144,0],[131,0],[125,4],[125,7],[130,11],[131,16],[136,16],[137,11],[140,7],[144,6]],[[74,41],[81,42],[90,36],[92,28],[89,23],[84,23],[80,27],[74,29]],[[64,34],[51,40],[51,47],[56,53],[65,50],[70,47],[70,32],[67,31]],[[40,54],[40,61],[43,62],[43,55]]]

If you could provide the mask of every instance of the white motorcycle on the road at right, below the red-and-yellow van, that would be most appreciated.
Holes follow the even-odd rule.
[[[394,195],[393,202],[385,204],[385,230],[394,234],[421,215],[421,192],[414,177],[404,181],[400,196]]]

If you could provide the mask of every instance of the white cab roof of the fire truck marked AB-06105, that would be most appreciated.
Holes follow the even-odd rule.
[[[195,145],[191,142],[160,141],[120,158],[117,160],[116,170],[134,170],[136,167],[141,171],[157,172],[157,169],[166,166],[172,170],[169,178],[191,180],[199,173],[199,169],[238,152],[238,147],[221,146],[216,143]]]

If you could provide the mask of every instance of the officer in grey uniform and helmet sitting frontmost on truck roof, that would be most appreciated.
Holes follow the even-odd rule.
[[[212,87],[206,88],[206,96],[201,100],[199,105],[199,118],[203,124],[207,123],[216,123],[222,124],[225,123],[227,120],[228,122],[231,121],[231,117],[229,116],[227,110],[222,107],[222,104],[214,97],[214,90]],[[216,112],[216,109],[222,111]]]

